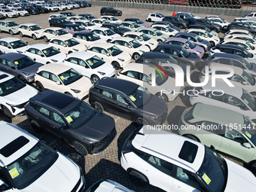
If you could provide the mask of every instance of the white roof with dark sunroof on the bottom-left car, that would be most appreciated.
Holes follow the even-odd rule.
[[[0,121],[0,166],[8,166],[26,154],[38,139],[13,123]]]

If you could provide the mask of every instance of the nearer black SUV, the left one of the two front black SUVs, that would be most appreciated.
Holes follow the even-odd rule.
[[[74,96],[53,90],[33,96],[25,110],[36,131],[47,130],[84,156],[102,152],[117,133],[112,117]]]

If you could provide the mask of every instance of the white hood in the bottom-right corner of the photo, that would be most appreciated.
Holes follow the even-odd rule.
[[[227,184],[225,192],[246,191],[254,192],[256,190],[256,178],[254,175],[242,166],[225,159],[227,162]]]

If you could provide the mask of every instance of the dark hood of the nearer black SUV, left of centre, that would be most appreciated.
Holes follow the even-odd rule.
[[[74,130],[84,139],[89,141],[99,142],[108,136],[114,130],[114,119],[101,111],[96,111],[96,114],[81,126],[78,130]]]

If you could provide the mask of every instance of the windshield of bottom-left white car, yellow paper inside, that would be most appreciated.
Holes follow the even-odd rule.
[[[32,184],[56,162],[59,155],[52,148],[38,142],[26,154],[5,167],[9,180],[17,189]]]

